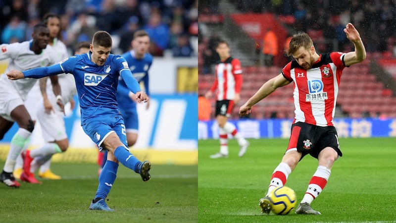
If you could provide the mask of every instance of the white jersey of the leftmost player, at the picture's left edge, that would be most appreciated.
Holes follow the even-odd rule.
[[[22,43],[2,44],[0,45],[0,60],[9,58],[8,67],[4,74],[11,69],[28,70],[36,67],[44,67],[55,64],[55,53],[48,45],[46,49],[39,55],[36,55],[30,50],[32,41],[25,41]],[[24,78],[19,80],[9,80],[7,75],[1,75],[1,82],[6,86],[14,87],[22,100],[25,100],[26,95],[36,83],[37,79]]]

